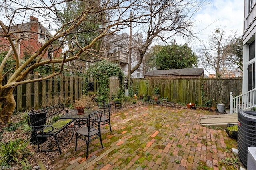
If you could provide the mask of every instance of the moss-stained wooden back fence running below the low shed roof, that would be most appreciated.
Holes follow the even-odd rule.
[[[162,98],[184,104],[204,105],[212,100],[212,106],[229,106],[230,92],[234,96],[242,94],[242,78],[133,79],[133,85],[139,97],[153,94],[158,87]]]

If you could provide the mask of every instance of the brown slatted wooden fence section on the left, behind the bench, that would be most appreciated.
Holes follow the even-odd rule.
[[[28,75],[32,80],[40,75]],[[5,84],[7,78],[3,81]],[[82,77],[55,76],[44,81],[31,82],[16,86],[13,95],[16,100],[16,111],[29,111],[56,103],[72,103],[85,89],[86,80]]]

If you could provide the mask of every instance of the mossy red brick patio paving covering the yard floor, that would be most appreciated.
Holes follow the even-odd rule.
[[[218,161],[231,157],[225,141],[232,140],[224,130],[200,126],[200,117],[213,112],[174,107],[141,106],[111,116],[99,140],[89,147],[79,141],[61,155],[56,169],[67,170],[197,170],[206,166],[219,170]],[[225,168],[222,168],[225,170]]]

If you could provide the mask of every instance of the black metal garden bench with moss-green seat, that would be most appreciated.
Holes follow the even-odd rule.
[[[37,144],[37,152],[39,144],[47,141],[49,137],[54,137],[58,149],[40,150],[42,152],[59,151],[60,145],[57,135],[62,132],[73,122],[73,119],[60,119],[70,110],[64,109],[63,104],[56,104],[41,110],[30,111],[28,113],[28,125],[32,127],[30,143]],[[49,140],[49,142],[51,142]]]

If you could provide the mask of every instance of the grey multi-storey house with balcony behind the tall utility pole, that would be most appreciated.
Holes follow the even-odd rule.
[[[130,37],[127,33],[114,34],[108,38],[108,58],[122,67],[127,76],[129,64]],[[132,35],[131,42],[131,69],[136,66],[140,59],[138,47],[142,46],[142,34]],[[143,78],[143,62],[140,67],[132,73],[131,78]]]

